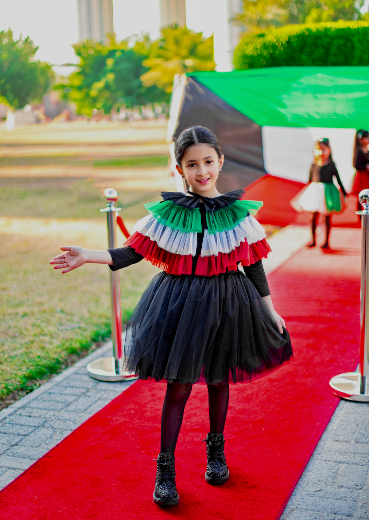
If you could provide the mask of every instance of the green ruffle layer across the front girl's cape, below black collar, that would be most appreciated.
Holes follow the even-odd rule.
[[[212,212],[206,212],[207,229],[210,234],[225,231],[237,226],[248,213],[255,213],[262,206],[256,200],[236,200],[229,206]],[[170,229],[179,229],[182,233],[201,233],[201,215],[198,207],[189,210],[187,207],[174,204],[172,201],[156,201],[145,204],[146,209],[160,224]]]

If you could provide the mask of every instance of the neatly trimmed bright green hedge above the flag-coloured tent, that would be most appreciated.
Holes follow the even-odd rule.
[[[305,23],[246,34],[233,62],[236,69],[368,66],[369,22]]]

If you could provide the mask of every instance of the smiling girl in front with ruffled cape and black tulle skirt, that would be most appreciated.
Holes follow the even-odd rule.
[[[149,215],[124,248],[64,246],[51,261],[63,273],[88,262],[116,270],[143,258],[164,269],[142,294],[125,339],[125,369],[167,383],[153,493],[161,505],[179,502],[174,451],[192,385],[208,388],[205,480],[223,484],[229,478],[223,436],[229,381],[250,381],[292,357],[261,263],[270,248],[250,214],[262,203],[240,200],[243,190],[217,191],[224,157],[208,128],[183,131],[175,154],[187,194],[162,192],[163,201],[147,204]]]

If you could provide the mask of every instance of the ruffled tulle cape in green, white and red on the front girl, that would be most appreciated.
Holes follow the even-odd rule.
[[[163,191],[163,201],[145,204],[149,215],[139,220],[130,245],[153,265],[173,275],[190,275],[197,233],[202,233],[200,199],[205,205],[205,230],[195,275],[214,276],[251,265],[271,251],[265,232],[252,216],[262,202],[240,200],[243,190],[216,198],[196,193]]]

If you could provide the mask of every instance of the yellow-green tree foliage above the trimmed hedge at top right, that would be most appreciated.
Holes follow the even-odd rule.
[[[364,0],[243,0],[243,12],[234,18],[245,32],[290,23],[318,23],[365,19]]]

